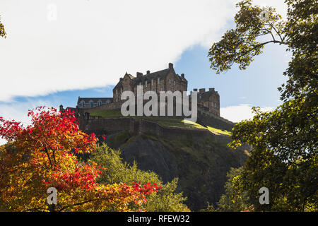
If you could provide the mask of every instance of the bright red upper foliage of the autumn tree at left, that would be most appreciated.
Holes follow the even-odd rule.
[[[96,147],[95,134],[79,131],[78,121],[70,110],[57,112],[53,107],[37,107],[29,110],[28,117],[31,117],[32,125],[26,128],[14,120],[0,118],[0,136],[7,141],[16,141],[16,146],[22,150],[45,151],[52,160],[55,160],[57,150],[90,153]]]

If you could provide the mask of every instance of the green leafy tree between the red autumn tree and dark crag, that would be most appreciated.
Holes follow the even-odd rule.
[[[159,189],[158,193],[147,196],[147,202],[143,204],[147,211],[189,211],[189,208],[183,203],[187,198],[184,198],[182,193],[175,192],[177,189],[177,179],[163,184],[157,174],[138,169],[136,162],[133,165],[127,164],[120,157],[120,150],[113,150],[105,143],[94,150],[90,155],[90,160],[106,168],[105,173],[100,176],[100,183],[111,182],[112,184],[125,183],[131,185],[133,182],[141,182],[141,184],[145,182],[146,184],[155,183],[160,186],[161,189]],[[136,206],[136,208],[140,207]],[[131,209],[134,210],[134,206]]]

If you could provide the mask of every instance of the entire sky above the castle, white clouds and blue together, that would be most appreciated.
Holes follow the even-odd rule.
[[[256,0],[285,16],[283,0]],[[30,123],[28,109],[75,107],[78,96],[112,97],[128,72],[184,73],[188,90],[215,88],[220,115],[252,117],[277,107],[290,54],[268,45],[245,71],[210,69],[208,49],[234,27],[232,0],[1,0],[0,116]],[[3,141],[0,141],[0,143]]]

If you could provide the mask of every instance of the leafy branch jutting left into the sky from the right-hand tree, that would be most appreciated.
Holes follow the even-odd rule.
[[[252,6],[249,0],[241,1],[237,7],[240,11],[235,15],[236,28],[225,32],[222,40],[214,43],[208,52],[211,69],[217,73],[231,69],[235,63],[240,69],[246,69],[266,44],[285,44],[285,22],[275,8]],[[270,39],[261,42],[261,37],[266,35]]]

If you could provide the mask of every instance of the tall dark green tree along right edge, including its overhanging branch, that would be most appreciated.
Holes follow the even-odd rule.
[[[273,112],[261,112],[252,120],[236,124],[231,146],[253,145],[242,172],[242,183],[255,210],[317,210],[317,0],[286,0],[287,19],[267,8],[241,1],[235,15],[236,28],[213,44],[208,57],[217,73],[232,64],[246,69],[266,44],[283,44],[293,57],[284,72],[288,81],[281,85],[283,104]],[[261,37],[261,39],[260,39]],[[265,37],[270,39],[264,40]],[[270,192],[269,205],[260,205],[259,189]]]

